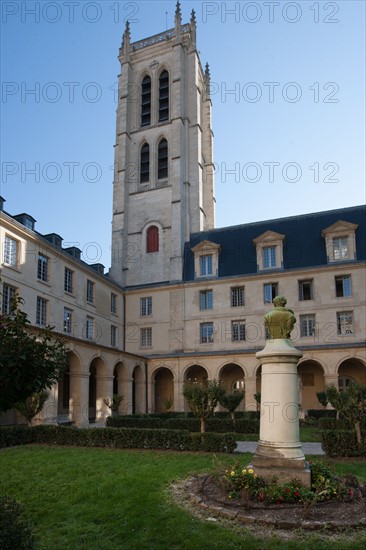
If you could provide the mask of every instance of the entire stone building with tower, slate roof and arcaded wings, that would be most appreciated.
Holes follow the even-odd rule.
[[[32,324],[52,322],[69,343],[45,419],[102,422],[112,393],[122,413],[168,400],[183,411],[184,382],[212,378],[255,410],[255,354],[277,294],[297,317],[302,414],[326,384],[366,384],[365,207],[215,229],[210,74],[194,12],[183,24],[178,2],[174,28],[138,42],[127,24],[119,60],[108,276],[37,234],[31,216],[0,214],[3,311],[19,290]]]

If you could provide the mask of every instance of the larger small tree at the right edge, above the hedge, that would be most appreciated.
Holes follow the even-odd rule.
[[[325,388],[329,403],[354,426],[357,443],[362,445],[361,419],[366,415],[366,386],[353,380],[339,391],[333,384]]]

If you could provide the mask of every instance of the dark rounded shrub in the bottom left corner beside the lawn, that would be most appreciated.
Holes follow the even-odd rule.
[[[0,496],[0,548],[32,550],[34,538],[23,507],[12,497]]]

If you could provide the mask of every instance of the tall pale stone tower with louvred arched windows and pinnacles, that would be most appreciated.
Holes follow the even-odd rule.
[[[112,267],[123,286],[182,280],[184,242],[214,227],[210,74],[196,19],[120,48]]]

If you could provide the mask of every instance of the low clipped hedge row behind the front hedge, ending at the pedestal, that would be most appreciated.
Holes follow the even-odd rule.
[[[167,429],[167,430],[188,430],[189,432],[200,431],[198,418],[159,418],[159,417],[138,417],[138,416],[109,416],[106,425],[114,428],[140,428],[140,429]],[[235,427],[231,419],[208,418],[206,421],[208,432],[227,433],[235,431],[242,434],[259,433],[259,420],[245,420],[238,418]]]

